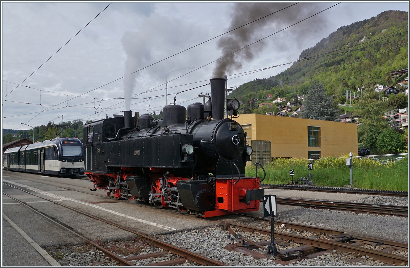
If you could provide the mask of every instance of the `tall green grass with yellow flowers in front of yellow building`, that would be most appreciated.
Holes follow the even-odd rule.
[[[350,184],[350,169],[346,166],[346,158],[326,158],[314,160],[313,170],[310,170],[313,183],[316,186],[341,187]],[[360,189],[378,189],[390,191],[408,191],[408,157],[399,161],[382,161],[368,158],[353,158],[353,187]],[[267,163],[266,184],[289,184],[291,177],[289,170],[294,170],[294,181],[300,177],[307,177],[307,159],[273,159]],[[255,166],[245,168],[246,176],[255,176]],[[262,170],[258,168],[258,176],[262,177]]]

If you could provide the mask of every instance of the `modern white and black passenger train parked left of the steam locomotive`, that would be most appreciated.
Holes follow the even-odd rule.
[[[84,174],[82,142],[76,138],[55,138],[7,149],[4,169],[50,175]]]

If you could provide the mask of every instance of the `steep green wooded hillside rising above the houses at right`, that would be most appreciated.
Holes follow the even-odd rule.
[[[295,94],[306,94],[312,80],[319,80],[326,85],[327,95],[344,102],[345,89],[357,95],[356,88],[362,86],[394,85],[402,77],[392,79],[390,72],[407,68],[407,17],[405,11],[385,11],[342,26],[302,51],[289,69],[242,84],[229,97],[246,103],[269,93],[292,100]]]

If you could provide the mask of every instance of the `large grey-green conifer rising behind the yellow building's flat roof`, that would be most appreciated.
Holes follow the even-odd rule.
[[[301,118],[335,121],[338,115],[339,107],[325,94],[323,84],[314,81],[305,98]]]

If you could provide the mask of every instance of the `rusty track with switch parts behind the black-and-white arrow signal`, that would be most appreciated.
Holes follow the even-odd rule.
[[[266,218],[260,219],[270,221]],[[335,252],[334,250],[344,253],[356,252],[356,254],[360,254],[358,256],[368,256],[375,260],[380,260],[388,265],[406,266],[408,264],[408,257],[388,253],[395,250],[402,250],[407,252],[407,242],[405,241],[398,241],[394,239],[380,238],[375,236],[366,236],[355,233],[346,233],[327,228],[302,225],[297,223],[288,223],[283,221],[275,221],[275,223],[276,225],[284,225],[285,228],[295,228],[298,230],[307,230],[319,233],[326,232],[327,234],[332,235],[331,239],[323,239],[314,236],[304,237],[297,234],[274,232],[276,245],[287,247],[285,250],[279,250],[278,255],[276,256],[275,261],[281,263],[282,265],[288,265],[289,263],[295,261],[295,259],[314,259],[324,254],[333,254]],[[270,245],[270,237],[269,241],[259,241],[255,243],[247,239],[246,234],[238,234],[237,232],[240,232],[242,230],[243,232],[257,232],[259,234],[269,236],[271,234],[271,230],[254,226],[229,223],[224,220],[221,222],[220,226],[221,229],[229,231],[233,236],[235,236],[235,243],[227,245],[225,249],[243,252],[244,254],[251,255],[255,259],[266,258],[266,251],[261,253],[255,251],[254,249],[262,248],[263,250],[266,250],[267,245]],[[234,227],[234,229],[230,227]],[[289,248],[289,246],[293,245],[294,243],[298,243],[300,245],[297,247]],[[372,245],[377,245],[378,249],[380,250],[370,250],[363,247]],[[357,257],[349,260],[349,262],[361,260],[361,257]]]

